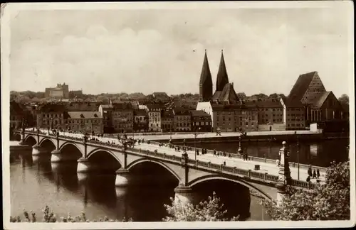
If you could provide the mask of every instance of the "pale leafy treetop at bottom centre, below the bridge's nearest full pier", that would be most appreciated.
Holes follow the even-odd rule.
[[[238,217],[224,218],[227,210],[223,210],[224,204],[219,204],[220,199],[213,192],[213,197],[207,201],[200,202],[196,207],[193,204],[184,204],[180,201],[174,202],[171,197],[172,206],[164,204],[167,209],[167,217],[163,221],[237,221]]]

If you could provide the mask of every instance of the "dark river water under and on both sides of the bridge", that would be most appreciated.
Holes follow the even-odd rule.
[[[300,144],[300,163],[313,163],[327,166],[331,160],[347,160],[348,141],[325,141],[323,143]],[[315,145],[318,149],[316,153]],[[197,143],[199,146],[199,143]],[[243,143],[244,150],[249,155],[275,158],[278,143]],[[312,151],[310,153],[310,146]],[[216,148],[235,153],[236,143],[204,144],[205,148]],[[293,146],[292,146],[293,148]],[[95,173],[78,175],[76,163],[57,163],[50,161],[50,155],[40,157],[31,153],[15,153],[11,155],[11,215],[23,216],[23,209],[34,211],[41,219],[46,205],[51,207],[57,217],[72,216],[84,211],[89,219],[99,219],[105,216],[111,219],[132,218],[134,221],[161,221],[167,212],[164,204],[170,204],[169,197],[174,197],[176,179],[169,172],[157,165],[137,166],[132,175],[141,180],[131,187],[115,187],[115,173]],[[295,154],[291,151],[291,158]],[[131,171],[130,171],[131,172]],[[145,177],[142,177],[145,175]],[[237,186],[237,187],[236,187]],[[213,191],[226,204],[228,214],[244,214],[246,212],[246,196],[242,195],[241,185],[231,182],[220,184],[211,182],[204,187],[197,187],[196,200],[206,199]],[[236,198],[237,197],[237,198]],[[249,197],[249,196],[248,196]],[[260,198],[251,196],[249,211],[252,220],[268,220],[258,202]],[[245,213],[246,214],[246,213]]]

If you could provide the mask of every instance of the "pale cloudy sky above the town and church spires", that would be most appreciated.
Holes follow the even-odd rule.
[[[288,95],[299,75],[318,71],[340,97],[352,77],[349,19],[338,5],[19,11],[10,24],[10,89],[66,82],[85,94],[198,93],[206,49],[214,88],[224,50],[236,92]]]

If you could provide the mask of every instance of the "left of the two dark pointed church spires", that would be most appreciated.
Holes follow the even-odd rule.
[[[211,72],[209,68],[208,56],[204,55],[203,67],[200,74],[199,82],[199,102],[209,102],[213,96],[213,81],[211,80]]]

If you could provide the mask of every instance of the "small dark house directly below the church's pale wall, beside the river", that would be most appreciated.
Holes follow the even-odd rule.
[[[212,121],[211,116],[202,110],[190,111],[192,114],[192,131],[196,132],[211,132]]]

